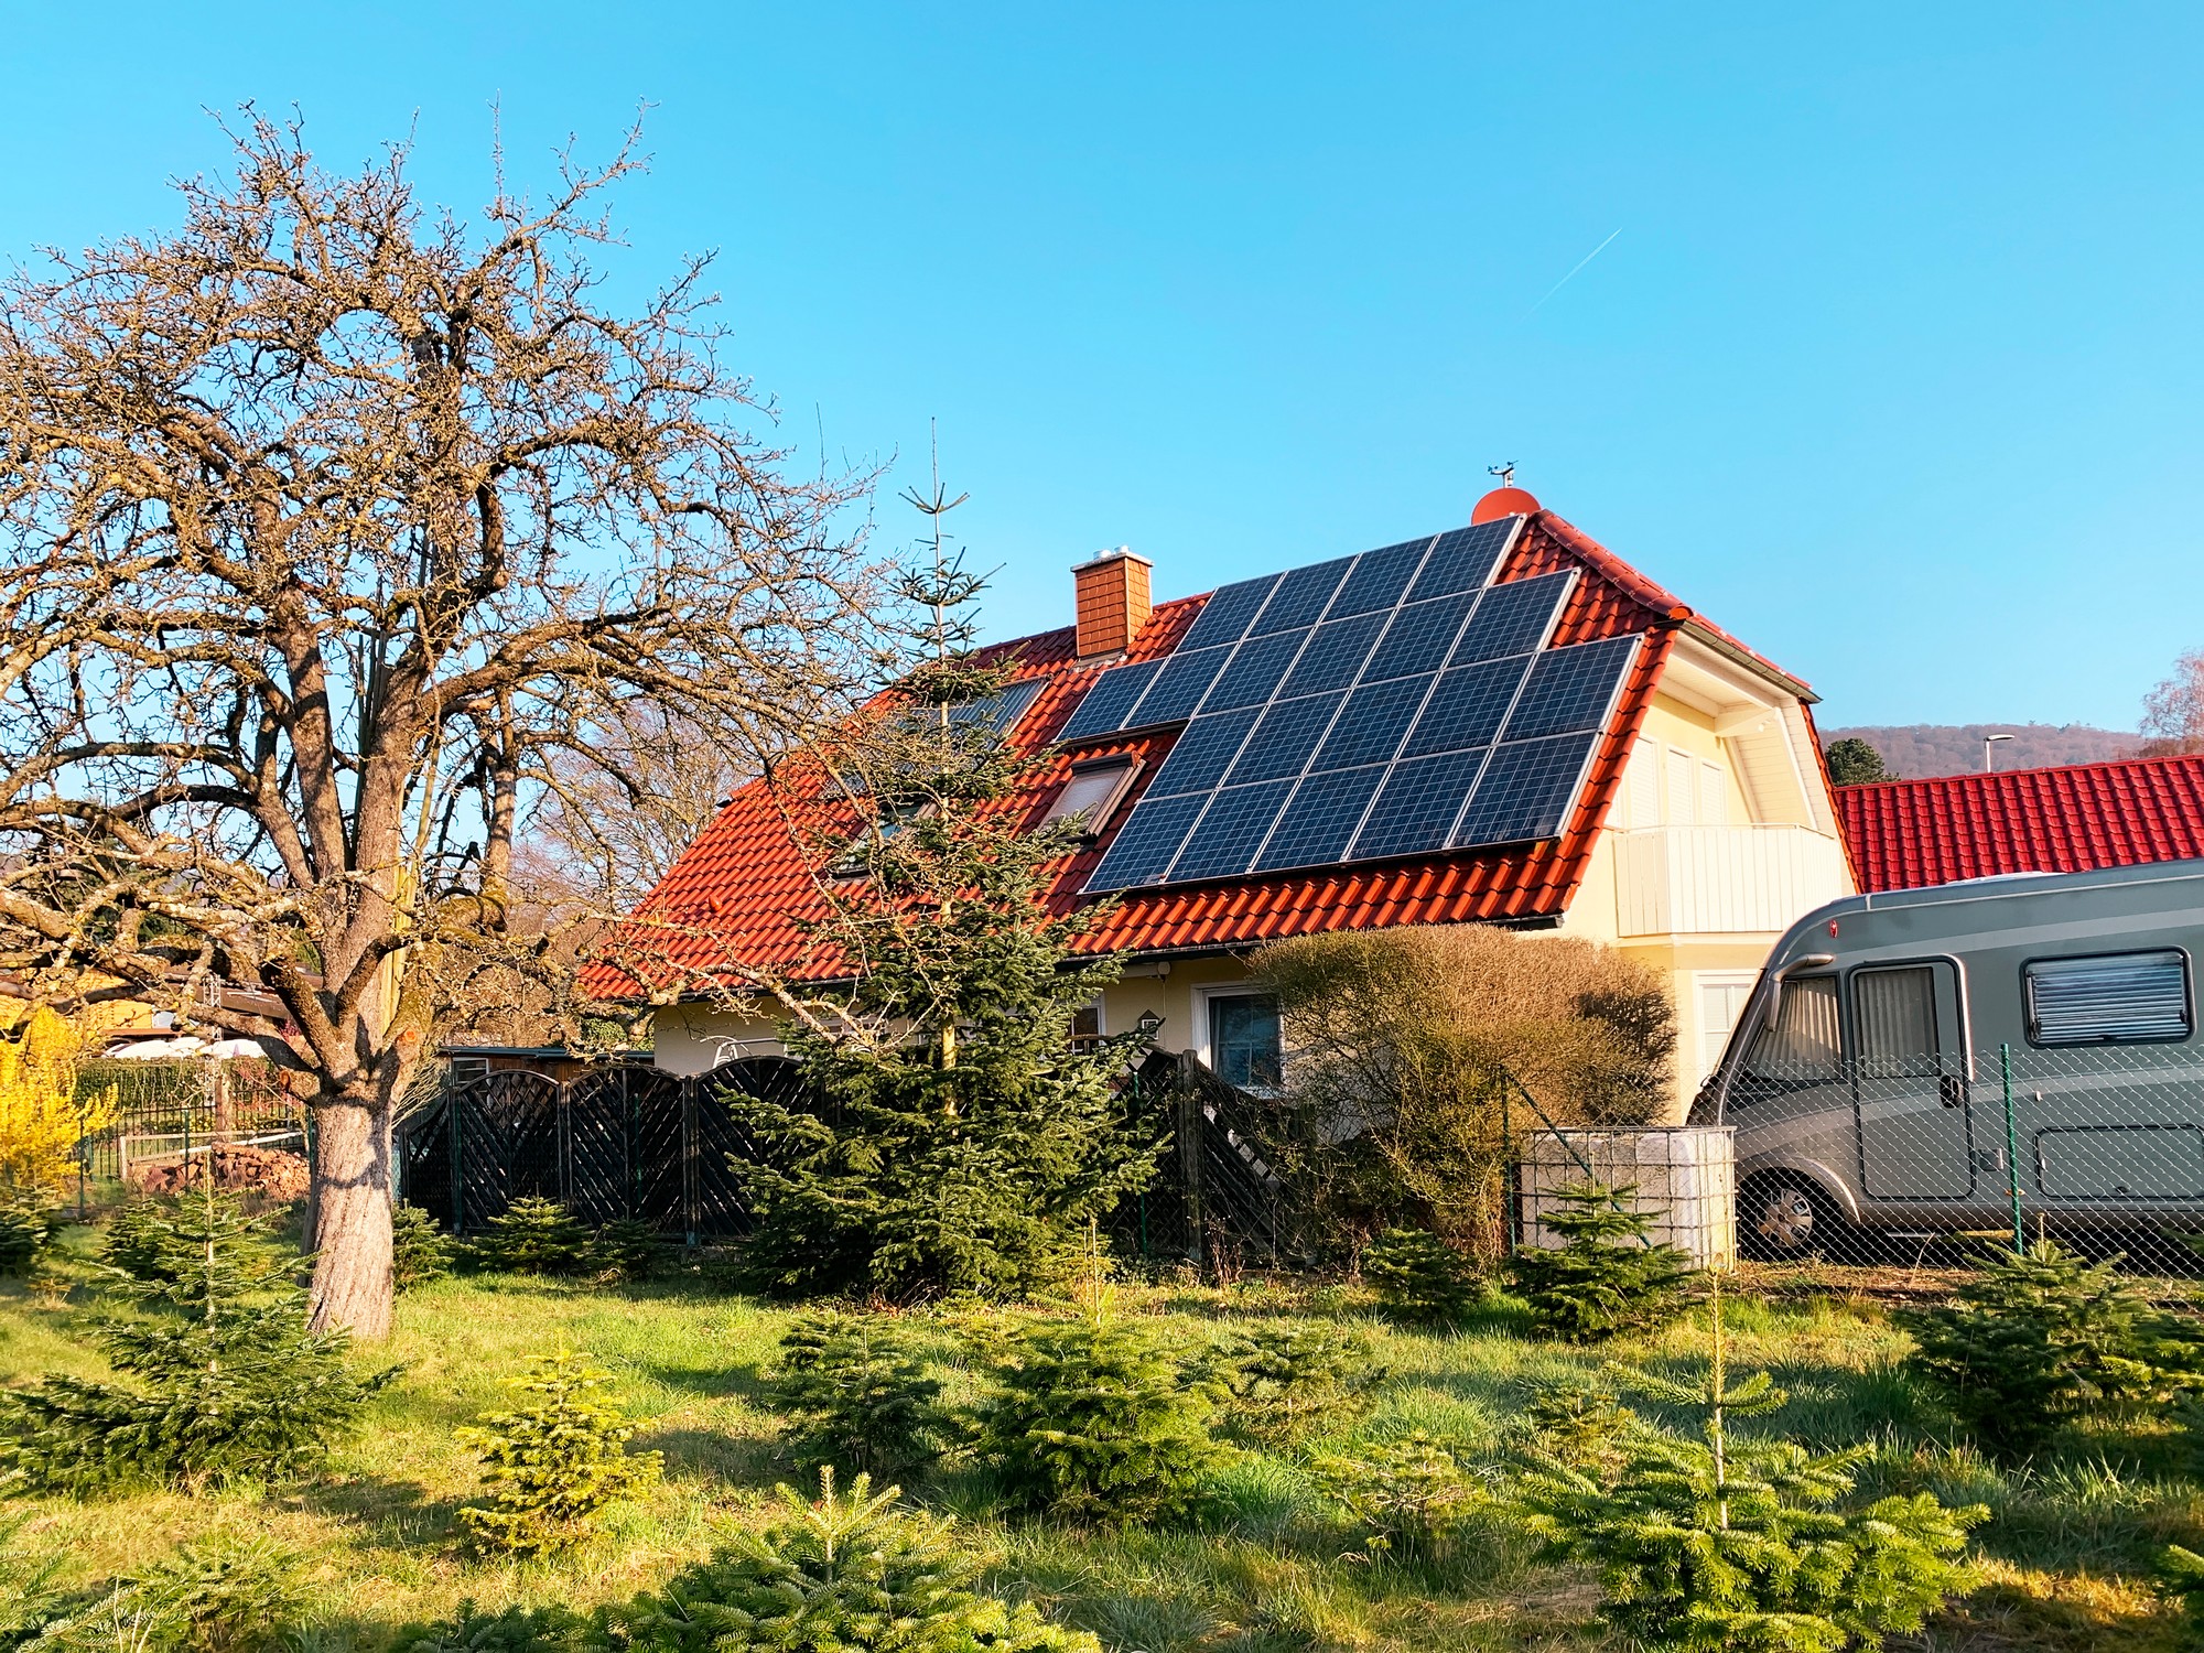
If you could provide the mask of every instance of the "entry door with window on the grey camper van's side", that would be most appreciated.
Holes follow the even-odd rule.
[[[1959,970],[1948,959],[1851,972],[1860,1186],[1869,1199],[1975,1192]]]

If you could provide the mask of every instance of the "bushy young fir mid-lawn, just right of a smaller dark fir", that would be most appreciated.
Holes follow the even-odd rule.
[[[1042,1320],[990,1349],[974,1452],[1007,1503],[1089,1521],[1184,1516],[1219,1457],[1221,1391],[1181,1373],[1146,1327]]]

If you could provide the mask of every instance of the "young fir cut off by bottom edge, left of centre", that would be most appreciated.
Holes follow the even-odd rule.
[[[897,1510],[897,1488],[860,1474],[838,1497],[820,1470],[818,1503],[776,1490],[780,1521],[606,1611],[606,1640],[635,1653],[1100,1653],[1031,1605],[976,1593],[981,1558],[948,1519]]]

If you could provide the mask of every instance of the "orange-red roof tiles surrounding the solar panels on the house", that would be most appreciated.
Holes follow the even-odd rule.
[[[1675,630],[1693,630],[1774,672],[1743,644],[1708,626],[1662,586],[1646,580],[1598,542],[1552,511],[1530,518],[1501,580],[1527,580],[1558,569],[1580,569],[1576,593],[1554,630],[1554,644],[1585,644],[1620,633],[1649,633],[1631,679],[1622,685],[1607,736],[1593,754],[1591,771],[1574,818],[1560,835],[1527,846],[1463,851],[1415,862],[1347,866],[1320,873],[1276,873],[1217,884],[1131,890],[1109,917],[1084,937],[1091,952],[1190,952],[1252,946],[1309,930],[1360,930],[1391,923],[1521,921],[1563,912],[1582,882],[1593,838],[1613,800],[1631,738],[1644,721],[1653,685],[1668,659]],[[1128,659],[1168,655],[1208,597],[1181,597],[1155,608],[1133,641]],[[1040,633],[990,650],[1016,659],[1020,677],[1047,677],[1049,685],[1012,732],[1027,752],[1045,747],[1080,703],[1093,681],[1117,661],[1078,666],[1071,628]],[[1803,690],[1803,685],[1798,685]],[[1126,736],[1111,745],[1080,745],[1078,756],[1133,752],[1144,760],[1142,778],[1155,774],[1173,734]],[[1038,815],[1069,774],[1069,758],[1042,771],[1025,809]],[[1135,782],[1115,811],[1122,824],[1139,796]],[[791,970],[804,952],[804,921],[822,915],[813,884],[813,862],[802,851],[820,831],[849,831],[846,804],[800,796],[800,785],[752,782],[674,864],[637,910],[652,930],[648,952],[663,957],[661,985],[714,974],[723,963]],[[1109,838],[1069,855],[1056,882],[1054,906],[1069,910],[1093,873]],[[641,950],[641,948],[639,948]],[[655,974],[655,972],[652,972]],[[824,974],[824,972],[820,972]],[[619,970],[595,965],[584,987],[602,996],[633,992]]]

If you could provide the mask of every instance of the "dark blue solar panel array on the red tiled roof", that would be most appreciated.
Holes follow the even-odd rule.
[[[1547,648],[1576,573],[1492,584],[1521,518],[1217,591],[1060,743],[1184,723],[1091,893],[1552,838],[1638,637]]]

